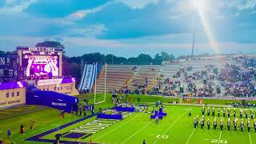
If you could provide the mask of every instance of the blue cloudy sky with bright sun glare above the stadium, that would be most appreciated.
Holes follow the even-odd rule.
[[[0,50],[57,40],[69,56],[256,52],[256,0],[0,0]]]

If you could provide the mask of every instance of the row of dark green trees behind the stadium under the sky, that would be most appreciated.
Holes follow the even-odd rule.
[[[168,54],[166,52],[161,52],[160,54],[155,54],[154,57],[151,57],[150,54],[138,54],[137,57],[118,57],[114,54],[101,54],[101,53],[90,53],[83,54],[82,56],[68,57],[65,54],[65,46],[60,42],[55,41],[46,41],[38,42],[36,46],[42,47],[58,47],[63,50],[62,57],[62,74],[64,76],[72,76],[75,78],[81,78],[81,65],[83,64],[92,64],[98,62],[98,64],[123,64],[123,65],[161,65],[163,61],[172,61],[174,59],[186,59],[191,58],[190,55],[181,55],[178,58],[174,57],[174,54]],[[0,54],[5,55],[9,52],[4,52],[0,50]],[[15,53],[15,52],[10,52]],[[197,57],[210,56],[210,54],[201,54]]]

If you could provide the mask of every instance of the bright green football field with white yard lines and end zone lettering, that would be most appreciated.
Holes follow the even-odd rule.
[[[218,119],[218,128],[214,130],[213,122],[214,117],[206,116],[210,118],[211,126],[210,130],[207,130],[206,126],[201,129],[198,126],[194,129],[194,117],[198,115],[199,122],[202,118],[201,107],[197,106],[166,106],[167,116],[159,121],[159,124],[155,124],[155,121],[150,120],[150,114],[137,112],[135,114],[130,114],[122,121],[111,122],[110,126],[102,126],[95,130],[94,134],[90,134],[90,136],[84,138],[61,138],[63,141],[79,141],[79,142],[90,142],[90,140],[94,143],[142,143],[145,139],[146,143],[182,143],[182,144],[210,144],[210,143],[248,143],[253,144],[256,143],[256,133],[254,132],[253,120],[251,121],[251,130],[250,133],[247,132],[246,121],[245,129],[243,132],[240,130],[234,131],[233,129],[233,118],[231,119],[231,130],[228,131],[226,128],[226,120],[224,130],[220,130],[219,122],[221,117]],[[189,110],[192,111],[192,116],[188,116]],[[76,129],[79,126],[86,126],[85,131],[95,129],[95,126],[88,126],[90,122],[95,122],[94,118],[86,119],[83,122],[79,122],[74,126],[66,127],[63,130],[60,130],[61,134],[79,134],[81,133],[81,129]],[[245,118],[244,118],[245,119]],[[99,120],[98,120],[99,121]],[[97,122],[98,122],[97,121]],[[104,122],[102,123],[110,123]],[[106,120],[107,121],[107,120]],[[88,124],[89,123],[89,124]],[[238,121],[238,127],[240,124],[240,120]],[[96,126],[97,127],[97,126]],[[87,131],[86,131],[87,130]],[[89,131],[91,132],[91,131]],[[54,133],[48,134],[44,138],[46,139],[54,139]]]

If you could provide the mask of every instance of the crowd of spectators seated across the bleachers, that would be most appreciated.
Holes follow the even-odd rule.
[[[183,62],[184,63],[184,62]],[[191,63],[191,62],[190,62]],[[218,62],[198,64],[177,63],[170,64],[165,73],[159,73],[153,82],[154,76],[143,76],[139,73],[136,78],[131,79],[131,85],[126,83],[120,90],[110,90],[110,93],[119,94],[158,94],[164,96],[178,96],[180,94],[194,97],[212,96],[256,96],[254,87],[254,66],[256,59],[227,58],[226,64],[218,65]],[[196,63],[196,62],[195,62]],[[249,66],[253,66],[248,68]],[[137,67],[134,67],[136,70]],[[150,73],[150,66],[144,68]],[[138,69],[139,70],[139,69]],[[152,66],[154,71],[154,66]],[[152,86],[152,82],[154,86]],[[86,91],[87,92],[87,91]]]

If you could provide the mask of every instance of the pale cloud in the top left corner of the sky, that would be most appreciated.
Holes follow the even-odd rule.
[[[0,8],[0,14],[21,13],[34,2],[38,0],[6,0],[5,5]]]

